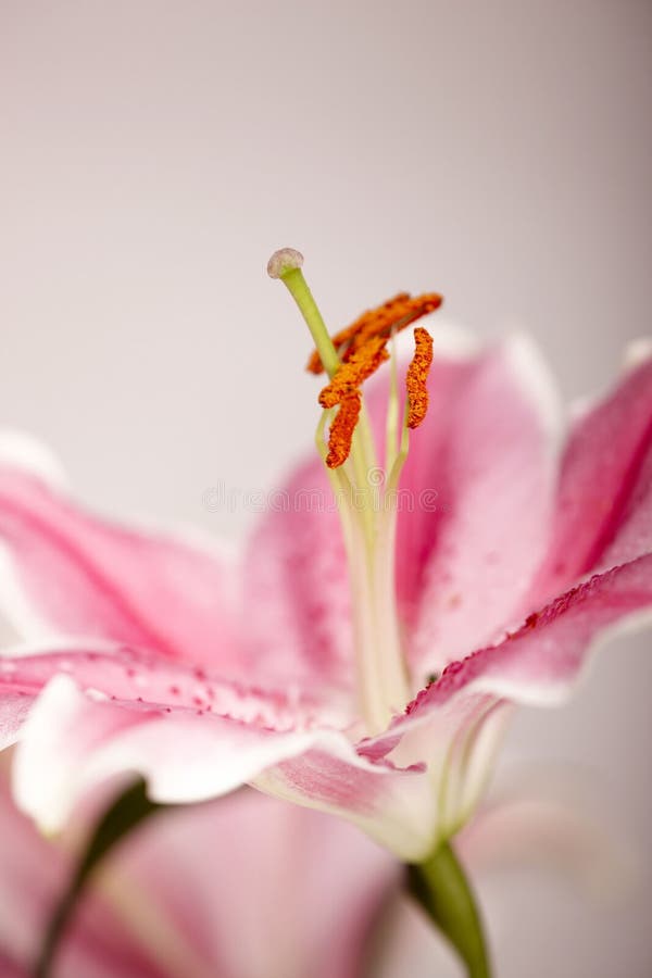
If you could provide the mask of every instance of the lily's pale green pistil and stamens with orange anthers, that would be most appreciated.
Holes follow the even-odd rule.
[[[302,264],[300,252],[284,248],[272,255],[267,272],[287,286],[311,331],[315,350],[308,369],[313,374],[326,372],[329,377],[319,393],[324,413],[316,442],[342,525],[360,709],[367,731],[373,734],[385,729],[410,699],[396,593],[398,489],[408,455],[409,429],[416,428],[426,416],[427,376],[432,361],[432,339],[426,329],[417,327],[401,405],[393,337],[438,309],[442,300],[435,293],[412,298],[401,292],[330,337],[301,272]],[[362,387],[386,360],[390,360],[391,375],[381,468]]]

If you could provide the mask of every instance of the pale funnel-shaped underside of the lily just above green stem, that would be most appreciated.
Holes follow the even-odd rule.
[[[430,713],[427,723],[362,741],[354,760],[316,745],[264,770],[253,783],[347,818],[401,861],[421,862],[477,804],[507,714],[496,698],[467,697]]]

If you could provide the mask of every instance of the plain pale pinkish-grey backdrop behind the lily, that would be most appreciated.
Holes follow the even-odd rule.
[[[644,0],[2,0],[3,421],[95,505],[237,538],[205,489],[275,485],[316,421],[280,244],[334,325],[438,289],[604,385],[649,331],[651,41]],[[482,877],[501,978],[652,973],[650,673],[623,640],[515,725],[503,770],[569,765],[641,868]]]

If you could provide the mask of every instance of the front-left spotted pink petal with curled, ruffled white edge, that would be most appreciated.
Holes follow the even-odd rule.
[[[306,749],[313,727],[338,720],[291,690],[263,693],[115,647],[2,659],[0,693],[14,739],[25,703],[38,697],[20,731],[17,767],[27,772],[25,806],[37,814],[32,795],[42,797],[52,826],[84,792],[87,758],[88,785],[136,769],[166,801],[204,799]]]

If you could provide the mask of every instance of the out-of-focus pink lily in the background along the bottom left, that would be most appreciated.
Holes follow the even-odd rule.
[[[0,775],[4,978],[34,975],[87,814],[47,840]],[[389,854],[342,819],[260,792],[171,808],[96,875],[49,974],[360,978],[397,882]]]

